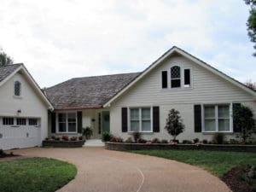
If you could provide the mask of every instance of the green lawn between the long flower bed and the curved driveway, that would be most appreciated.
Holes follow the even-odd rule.
[[[137,150],[131,152],[200,166],[218,177],[222,177],[224,173],[229,172],[235,166],[256,165],[255,153],[203,150]]]

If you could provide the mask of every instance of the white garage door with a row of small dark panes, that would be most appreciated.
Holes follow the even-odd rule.
[[[0,117],[0,148],[31,148],[41,144],[40,119]]]

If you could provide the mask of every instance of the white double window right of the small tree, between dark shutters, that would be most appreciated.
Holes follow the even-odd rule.
[[[204,131],[230,132],[230,104],[204,106]]]

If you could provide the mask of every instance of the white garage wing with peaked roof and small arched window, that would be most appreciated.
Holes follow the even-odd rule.
[[[23,64],[0,67],[0,148],[40,146],[53,110]]]

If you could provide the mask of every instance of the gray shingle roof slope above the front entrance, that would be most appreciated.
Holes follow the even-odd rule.
[[[55,109],[102,108],[140,73],[123,73],[67,80],[45,90]]]

